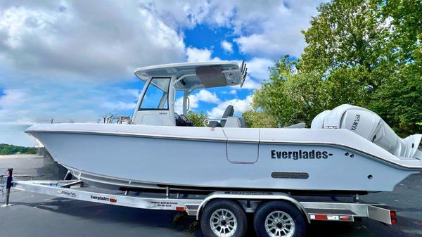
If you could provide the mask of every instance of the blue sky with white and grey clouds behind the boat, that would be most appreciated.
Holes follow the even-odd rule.
[[[164,63],[245,60],[243,88],[198,90],[190,98],[191,110],[210,117],[221,117],[229,104],[241,114],[274,60],[300,57],[300,31],[319,4],[0,1],[0,143],[27,146],[18,138],[23,127],[51,119],[132,115],[143,87],[134,70]]]

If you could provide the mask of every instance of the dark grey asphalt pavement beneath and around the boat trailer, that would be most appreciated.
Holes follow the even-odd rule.
[[[15,179],[60,179],[64,170],[42,157],[1,158],[0,174],[14,168]],[[362,196],[366,202],[395,207],[398,224],[314,222],[309,237],[422,237],[422,174],[414,174],[388,193]],[[4,197],[0,197],[0,205]],[[141,210],[55,198],[12,190],[11,206],[0,207],[0,236],[203,236],[180,212]],[[255,236],[252,228],[248,236]]]

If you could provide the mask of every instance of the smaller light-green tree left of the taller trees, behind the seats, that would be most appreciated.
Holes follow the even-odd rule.
[[[326,107],[323,80],[313,72],[298,71],[300,61],[289,56],[269,68],[269,81],[255,91],[253,107],[268,113],[283,127],[298,122],[308,125]]]

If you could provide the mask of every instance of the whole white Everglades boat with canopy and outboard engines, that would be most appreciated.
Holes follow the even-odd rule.
[[[37,124],[25,132],[76,179],[123,191],[365,194],[392,191],[422,170],[421,134],[401,139],[376,113],[352,105],[320,113],[310,128],[247,128],[231,105],[193,127],[189,95],[242,86],[245,63],[173,63],[134,74],[145,85],[127,124]]]

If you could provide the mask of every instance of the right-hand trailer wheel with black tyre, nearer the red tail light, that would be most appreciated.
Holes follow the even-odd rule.
[[[304,237],[306,232],[302,212],[283,201],[262,203],[255,212],[253,225],[260,237]]]

